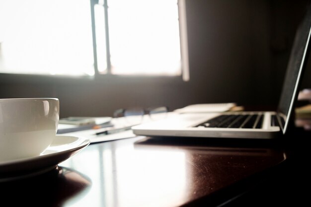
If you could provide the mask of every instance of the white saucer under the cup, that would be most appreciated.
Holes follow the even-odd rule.
[[[89,139],[57,135],[50,147],[39,156],[0,162],[0,182],[27,178],[52,170],[89,143]]]

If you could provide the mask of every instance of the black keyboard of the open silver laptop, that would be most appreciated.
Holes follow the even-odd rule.
[[[260,129],[263,123],[262,114],[246,114],[246,115],[220,115],[210,119],[196,127],[217,127],[217,128],[244,128],[244,129]]]

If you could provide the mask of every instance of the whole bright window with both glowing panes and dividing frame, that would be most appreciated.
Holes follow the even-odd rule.
[[[0,72],[181,75],[178,13],[177,0],[0,0]]]

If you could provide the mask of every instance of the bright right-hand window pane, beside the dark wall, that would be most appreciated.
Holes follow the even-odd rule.
[[[111,72],[180,75],[177,0],[109,0]]]

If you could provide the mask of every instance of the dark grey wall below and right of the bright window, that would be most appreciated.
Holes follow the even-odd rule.
[[[115,109],[137,105],[276,106],[307,2],[187,0],[189,82],[180,77],[77,80],[2,74],[0,98],[57,97],[61,117],[111,116]],[[304,87],[311,87],[309,80]]]

